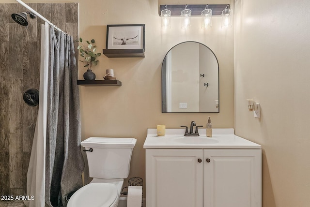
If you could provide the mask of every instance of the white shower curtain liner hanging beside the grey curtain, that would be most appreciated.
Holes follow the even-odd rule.
[[[48,24],[41,28],[41,63],[39,110],[33,135],[30,162],[27,173],[27,207],[45,206],[45,156],[47,132],[47,72],[48,72]]]

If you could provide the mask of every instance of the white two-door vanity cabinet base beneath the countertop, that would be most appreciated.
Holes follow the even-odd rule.
[[[146,207],[261,205],[261,149],[146,149]]]

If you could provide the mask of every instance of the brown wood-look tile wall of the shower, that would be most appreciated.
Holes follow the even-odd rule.
[[[29,5],[78,40],[78,3]],[[11,18],[13,13],[26,11],[20,4],[0,4],[0,195],[26,195],[38,111],[38,106],[24,103],[22,96],[28,89],[39,89],[44,21],[28,17],[26,29]]]

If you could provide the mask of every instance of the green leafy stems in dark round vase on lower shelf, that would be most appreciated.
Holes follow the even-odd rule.
[[[87,46],[83,44],[82,38],[79,38],[79,42],[80,45],[78,45],[78,50],[80,56],[84,59],[79,61],[84,62],[84,67],[87,67],[87,71],[83,74],[83,77],[85,80],[94,80],[96,75],[93,73],[91,68],[93,65],[98,64],[99,60],[96,60],[96,58],[101,56],[101,53],[96,53],[96,45],[93,45],[95,43],[94,39],[92,39],[91,42],[87,40]]]

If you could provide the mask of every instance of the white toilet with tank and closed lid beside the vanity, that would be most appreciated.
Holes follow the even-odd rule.
[[[70,197],[67,207],[117,207],[136,142],[134,138],[107,137],[82,141],[93,180]]]

